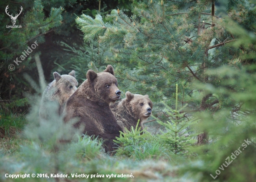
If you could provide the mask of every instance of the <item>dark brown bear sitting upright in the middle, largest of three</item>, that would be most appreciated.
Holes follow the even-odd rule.
[[[120,136],[122,131],[109,106],[121,96],[114,75],[112,65],[108,65],[106,70],[100,73],[88,70],[87,80],[69,97],[65,107],[64,122],[77,118],[74,127],[84,127],[83,134],[103,139],[106,152],[115,150],[117,146],[113,139]]]

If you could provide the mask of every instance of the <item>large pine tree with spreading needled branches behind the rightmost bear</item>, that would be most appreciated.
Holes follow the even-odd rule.
[[[95,19],[82,15],[76,20],[85,41],[99,36],[101,42],[112,47],[114,56],[107,58],[107,63],[115,65],[120,87],[133,85],[130,91],[147,92],[155,102],[165,100],[172,105],[178,83],[183,87],[178,100],[182,105],[189,104],[189,112],[214,113],[221,107],[229,110],[237,107],[238,103],[230,102],[224,95],[216,96],[192,83],[218,85],[220,80],[209,77],[207,70],[222,65],[241,69],[249,61],[245,55],[253,52],[250,46],[229,45],[237,44],[243,37],[242,33],[231,33],[236,23],[253,30],[249,26],[255,21],[253,5],[230,0],[225,19],[215,15],[215,0],[134,0],[133,5],[131,17],[120,10],[107,15],[112,24],[105,23],[101,15]],[[133,69],[139,71],[131,74]],[[208,137],[208,131],[204,130],[197,137],[198,143],[208,143]]]

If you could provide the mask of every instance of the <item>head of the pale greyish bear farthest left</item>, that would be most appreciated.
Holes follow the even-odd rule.
[[[54,79],[61,102],[66,102],[77,89],[78,82],[75,79],[75,71],[71,71],[68,75],[60,75],[58,72],[54,72]]]

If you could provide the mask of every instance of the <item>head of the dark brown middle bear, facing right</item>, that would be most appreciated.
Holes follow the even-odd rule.
[[[112,65],[108,65],[106,70],[100,73],[88,70],[86,77],[95,97],[108,104],[120,99],[121,91],[117,87],[117,79]]]

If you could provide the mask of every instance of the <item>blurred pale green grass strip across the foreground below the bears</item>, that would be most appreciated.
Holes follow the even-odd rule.
[[[52,143],[54,146],[56,143]],[[0,140],[0,176],[4,174],[68,174],[67,178],[37,178],[37,181],[85,181],[84,178],[72,178],[71,174],[105,175],[104,178],[93,177],[88,182],[192,182],[185,177],[178,177],[175,165],[184,159],[179,156],[165,158],[159,153],[160,145],[150,143],[134,145],[134,154],[107,155],[101,147],[102,142],[89,136],[79,137],[77,142],[63,145],[58,151],[51,150],[50,144],[28,141],[20,137],[4,137]],[[47,146],[48,145],[48,146]],[[154,145],[154,144],[153,144]],[[127,146],[128,147],[128,146]],[[152,149],[151,149],[152,148]],[[144,152],[143,152],[144,151]],[[147,152],[146,152],[147,151]],[[141,152],[141,153],[140,153]],[[157,157],[160,155],[160,157]],[[167,154],[166,154],[167,155]],[[4,163],[8,163],[7,167]],[[111,177],[106,175],[133,175],[135,177]],[[12,182],[12,178],[4,178]],[[33,181],[34,178],[16,179],[16,181]]]

